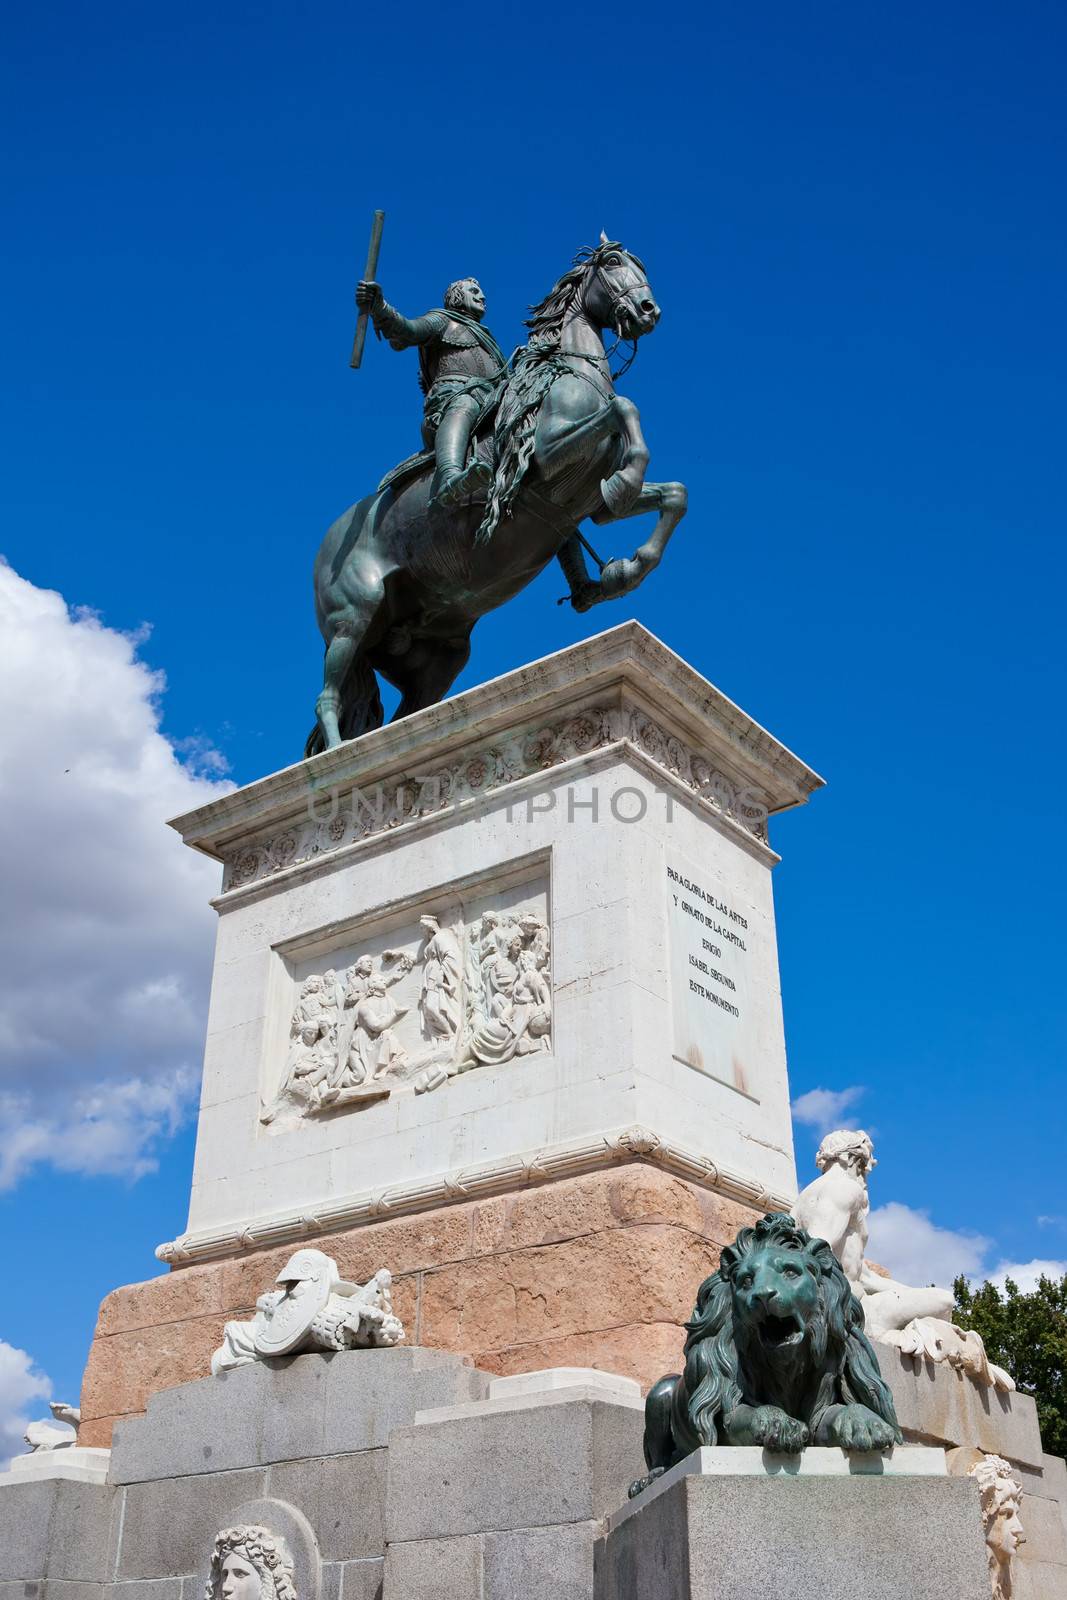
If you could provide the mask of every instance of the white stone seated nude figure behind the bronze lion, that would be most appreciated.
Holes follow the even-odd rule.
[[[870,1198],[867,1174],[875,1166],[870,1138],[859,1128],[827,1133],[816,1154],[821,1178],[797,1198],[793,1214],[809,1234],[830,1243],[853,1293],[862,1302],[867,1334],[904,1355],[945,1362],[979,1384],[1013,1390],[1014,1379],[995,1366],[974,1330],[952,1322],[952,1290],[909,1288],[865,1259]]]

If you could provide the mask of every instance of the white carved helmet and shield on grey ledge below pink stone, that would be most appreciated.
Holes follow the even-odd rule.
[[[251,1322],[227,1322],[211,1357],[218,1378],[272,1355],[387,1347],[405,1338],[392,1309],[392,1275],[382,1267],[366,1283],[346,1283],[322,1250],[298,1250],[275,1278],[280,1288],[256,1301]]]

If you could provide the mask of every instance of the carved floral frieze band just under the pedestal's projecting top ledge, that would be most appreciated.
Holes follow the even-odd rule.
[[[224,891],[246,888],[286,867],[358,845],[419,818],[474,806],[533,773],[544,773],[609,744],[629,744],[704,800],[717,816],[766,843],[766,797],[723,773],[701,750],[667,733],[657,722],[627,707],[590,706],[560,722],[474,744],[448,766],[397,773],[387,782],[350,794],[334,790],[280,834],[224,854]]]

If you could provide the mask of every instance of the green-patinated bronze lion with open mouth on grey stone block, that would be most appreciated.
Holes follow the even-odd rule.
[[[685,1371],[645,1402],[649,1470],[632,1496],[701,1445],[901,1443],[862,1307],[827,1242],[792,1216],[741,1229],[701,1283],[686,1334]]]

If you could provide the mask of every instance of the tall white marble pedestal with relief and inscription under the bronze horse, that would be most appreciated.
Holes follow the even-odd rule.
[[[160,1258],[632,1155],[787,1206],[768,816],[819,782],[629,622],[176,819],[224,885],[189,1226]],[[483,1035],[451,1077],[427,915],[453,958],[443,1010]],[[486,1029],[477,990],[496,971]],[[312,1011],[336,1002],[339,1045],[315,1022],[294,1042],[309,978]],[[355,1048],[373,978],[363,1014],[402,1014],[357,1038],[363,1082],[294,1099],[315,1078],[293,1090],[301,1048],[322,1045],[318,1066]]]

